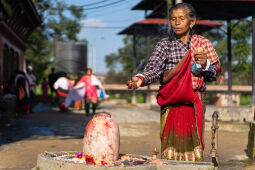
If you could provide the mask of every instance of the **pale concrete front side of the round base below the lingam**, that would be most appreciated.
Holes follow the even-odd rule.
[[[52,152],[54,154],[54,152]],[[58,155],[61,152],[58,152]],[[140,155],[132,155],[141,157]],[[144,156],[147,158],[146,156]],[[166,164],[143,164],[135,166],[98,166],[86,165],[83,163],[72,163],[67,161],[55,160],[54,157],[45,154],[39,154],[37,165],[32,170],[214,170],[210,162],[185,162],[185,161],[166,161]]]

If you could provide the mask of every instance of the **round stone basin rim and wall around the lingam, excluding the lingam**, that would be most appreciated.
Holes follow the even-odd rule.
[[[38,155],[37,165],[32,170],[214,170],[210,162],[187,162],[160,160],[163,163],[151,164],[151,157],[142,155],[125,154],[128,157],[145,160],[139,165],[87,165],[79,161],[73,161],[72,155],[79,152],[48,152]],[[70,156],[70,159],[69,157]]]

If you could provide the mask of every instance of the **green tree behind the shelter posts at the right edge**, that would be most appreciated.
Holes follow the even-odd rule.
[[[232,46],[232,78],[233,84],[251,85],[252,63],[251,63],[251,34],[252,26],[249,18],[245,20],[233,20],[231,22],[231,46]],[[205,37],[214,42],[223,72],[227,71],[227,27],[223,31],[212,30],[204,34]]]

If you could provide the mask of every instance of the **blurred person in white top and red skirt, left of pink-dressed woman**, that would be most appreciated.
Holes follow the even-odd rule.
[[[60,111],[66,111],[65,98],[72,88],[73,82],[66,77],[66,73],[60,73],[60,77],[54,83],[54,89],[57,91],[58,105]]]

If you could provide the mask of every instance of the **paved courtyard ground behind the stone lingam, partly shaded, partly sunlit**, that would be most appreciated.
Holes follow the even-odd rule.
[[[159,113],[138,107],[101,106],[119,123],[120,152],[150,155],[160,150]],[[39,112],[16,119],[0,128],[0,169],[23,170],[36,165],[44,151],[81,151],[85,126],[91,119],[84,111]],[[211,133],[205,134],[205,161],[210,161]],[[252,161],[239,161],[245,155],[248,132],[219,133],[219,169],[255,169]]]

